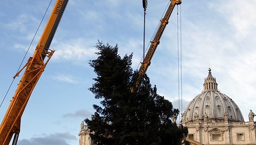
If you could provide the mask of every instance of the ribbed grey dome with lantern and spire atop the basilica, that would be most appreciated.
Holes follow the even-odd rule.
[[[216,78],[209,68],[204,78],[203,91],[197,95],[182,114],[182,123],[193,122],[244,122],[239,107],[227,95],[217,90]]]

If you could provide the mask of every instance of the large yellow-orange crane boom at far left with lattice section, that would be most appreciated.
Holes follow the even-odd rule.
[[[16,144],[17,142],[17,137],[20,133],[21,116],[37,81],[39,81],[46,64],[54,53],[54,50],[49,49],[50,43],[53,40],[67,3],[68,0],[56,1],[52,14],[49,17],[40,41],[36,46],[33,57],[30,57],[28,62],[22,68],[25,68],[24,74],[20,83],[18,83],[18,87],[0,126],[0,144],[8,145],[14,134],[15,137],[13,143]],[[44,58],[46,57],[48,57],[48,59],[44,61]],[[18,76],[21,71],[19,71],[14,78]]]

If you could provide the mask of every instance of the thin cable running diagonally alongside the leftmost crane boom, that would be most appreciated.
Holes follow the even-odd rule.
[[[34,41],[34,39],[35,39],[35,36],[36,36],[36,34],[37,34],[37,31],[39,30],[39,28],[40,28],[40,26],[41,26],[41,24],[42,24],[42,22],[43,22],[44,17],[46,16],[46,13],[47,13],[47,11],[48,11],[48,9],[49,9],[51,3],[52,3],[52,0],[50,0],[50,3],[48,4],[47,9],[46,9],[46,11],[44,12],[43,18],[41,19],[41,22],[40,22],[40,24],[39,24],[39,27],[37,27],[37,30],[36,30],[36,32],[35,32],[35,35],[34,35],[32,41],[30,42],[27,51],[25,52],[25,55],[24,55],[24,57],[23,57],[23,59],[22,59],[22,61],[21,61],[21,64],[20,64],[20,66],[18,67],[17,73],[18,73],[18,71],[20,71],[20,69],[21,69],[21,66],[22,66],[22,64],[23,64],[23,62],[24,62],[24,60],[25,60],[25,57],[26,57],[27,54],[28,54],[28,51],[29,51],[29,49],[30,49],[30,47],[31,47],[31,45],[32,45],[32,43],[33,43],[33,41]],[[17,73],[16,73],[16,74],[17,74]],[[5,100],[5,98],[6,98],[7,94],[8,94],[8,92],[9,92],[9,90],[10,90],[10,88],[11,88],[11,85],[12,85],[12,83],[14,82],[14,80],[15,80],[15,77],[13,77],[13,79],[12,79],[12,81],[11,81],[11,84],[10,84],[8,90],[7,90],[7,93],[5,93],[5,96],[4,96],[4,98],[3,98],[3,100],[2,100],[2,102],[1,102],[1,104],[0,104],[0,108],[2,107],[2,104],[3,104],[4,100]]]

